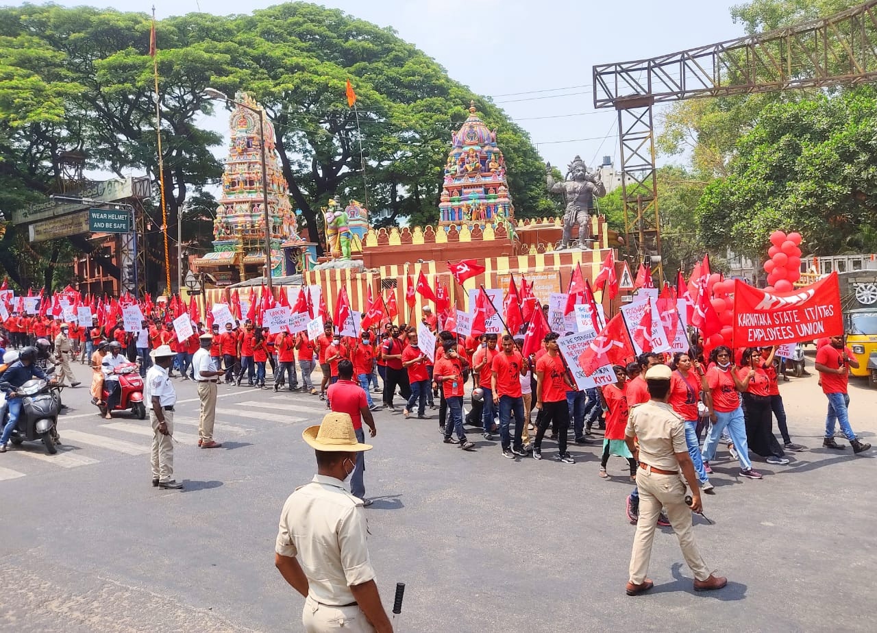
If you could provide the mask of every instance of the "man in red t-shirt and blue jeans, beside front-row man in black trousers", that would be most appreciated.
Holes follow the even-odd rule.
[[[503,336],[503,349],[490,361],[490,392],[494,405],[499,409],[499,437],[503,457],[515,459],[526,457],[524,452],[524,395],[521,391],[521,375],[527,373],[524,357],[517,351],[515,340],[509,334]],[[511,416],[515,416],[515,441],[509,432]]]

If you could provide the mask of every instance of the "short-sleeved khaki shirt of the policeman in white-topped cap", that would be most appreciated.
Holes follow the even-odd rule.
[[[640,462],[661,470],[679,470],[674,453],[688,452],[685,423],[666,402],[650,400],[631,407],[624,434],[638,438]]]

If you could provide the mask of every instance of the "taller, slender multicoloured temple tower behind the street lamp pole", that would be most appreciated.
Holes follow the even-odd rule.
[[[240,93],[237,100],[262,111],[246,93]],[[222,176],[222,196],[213,223],[213,252],[192,262],[198,270],[216,277],[219,285],[264,274],[266,231],[270,231],[272,276],[290,274],[290,268],[297,267],[296,261],[284,261],[283,252],[291,253],[286,259],[295,259],[296,253],[305,252],[309,246],[298,235],[296,214],[289,204],[289,189],[275,153],[274,126],[264,112],[262,117],[270,226],[265,226],[262,209],[259,118],[252,110],[238,106],[229,118],[231,138]],[[296,245],[301,249],[296,249]]]

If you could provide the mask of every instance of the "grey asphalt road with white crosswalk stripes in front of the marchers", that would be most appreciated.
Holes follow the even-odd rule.
[[[811,365],[812,366],[812,365]],[[316,396],[220,387],[217,439],[196,447],[195,386],[175,381],[175,476],[150,485],[148,422],[112,423],[83,387],[68,389],[65,445],[0,455],[0,630],[301,630],[303,599],[274,567],[277,520],[310,480],[301,439],[324,409]],[[825,400],[816,378],[782,385],[789,427],[807,452],[789,466],[756,458],[764,480],[738,478],[720,452],[715,496],[696,518],[697,544],[724,590],[695,594],[671,530],[657,535],[650,594],[624,594],[633,526],[623,459],[597,476],[599,449],[572,447],[574,465],[503,459],[441,443],[429,420],[376,414],[367,453],[369,548],[385,605],[407,583],[397,630],[873,630],[874,451],[821,447]],[[852,424],[873,441],[877,391],[851,388]],[[397,408],[401,411],[401,407]],[[838,440],[840,441],[840,440]],[[845,443],[844,443],[845,444]]]

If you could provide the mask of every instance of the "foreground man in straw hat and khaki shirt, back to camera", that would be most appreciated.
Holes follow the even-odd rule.
[[[357,441],[346,413],[327,413],[302,436],[316,450],[317,474],[283,504],[275,565],[305,597],[304,630],[392,633],[368,557],[362,500],[346,484],[356,454],[372,447]]]

